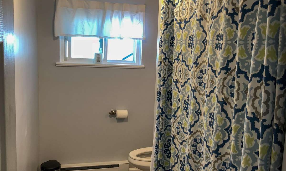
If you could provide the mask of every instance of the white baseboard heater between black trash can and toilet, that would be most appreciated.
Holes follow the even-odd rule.
[[[128,170],[129,170],[128,160],[61,165],[61,171],[128,171]]]

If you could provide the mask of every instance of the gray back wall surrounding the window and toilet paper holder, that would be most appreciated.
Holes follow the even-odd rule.
[[[159,1],[109,2],[146,4],[145,69],[55,66],[55,1],[37,1],[40,163],[127,160],[130,151],[152,146]],[[129,118],[117,121],[110,109],[128,109]]]

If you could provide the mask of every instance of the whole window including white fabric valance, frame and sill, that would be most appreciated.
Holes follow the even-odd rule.
[[[144,68],[145,5],[57,0],[56,6],[54,36],[60,37],[56,66]]]

